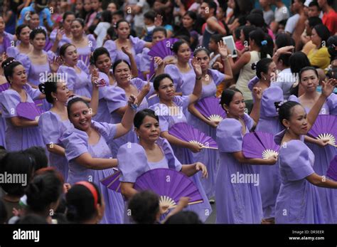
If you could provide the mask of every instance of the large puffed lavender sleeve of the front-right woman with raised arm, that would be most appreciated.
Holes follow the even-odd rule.
[[[301,180],[314,173],[309,160],[309,147],[300,140],[286,142],[279,150],[280,169],[289,181]]]

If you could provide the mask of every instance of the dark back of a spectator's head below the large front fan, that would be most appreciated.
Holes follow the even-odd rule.
[[[129,209],[137,224],[154,224],[159,212],[159,196],[153,191],[140,191],[130,199]]]

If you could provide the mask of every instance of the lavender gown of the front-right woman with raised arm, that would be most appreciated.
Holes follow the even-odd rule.
[[[274,137],[282,144],[285,130]],[[317,186],[306,177],[314,173],[315,155],[302,140],[285,142],[279,149],[281,187],[275,206],[276,224],[324,224]]]

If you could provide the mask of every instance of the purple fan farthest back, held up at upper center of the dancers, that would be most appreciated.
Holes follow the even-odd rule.
[[[159,41],[151,48],[149,51],[149,56],[151,56],[151,64],[150,64],[150,75],[154,74],[154,57],[160,57],[163,60],[173,58],[174,53],[171,51],[171,47],[173,43],[178,41],[178,38],[166,38],[164,41]]]

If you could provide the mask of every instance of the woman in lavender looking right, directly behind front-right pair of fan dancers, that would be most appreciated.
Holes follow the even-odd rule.
[[[276,64],[271,58],[262,58],[253,66],[256,77],[250,80],[248,88],[252,91],[254,87],[262,88],[262,99],[260,106],[260,117],[255,131],[267,132],[276,135],[283,130],[279,123],[278,114],[274,103],[283,101],[282,89],[271,86],[272,78],[275,78]],[[262,224],[274,223],[275,203],[279,194],[279,167],[255,166],[255,172],[260,174],[260,191],[262,199],[263,219]]]

